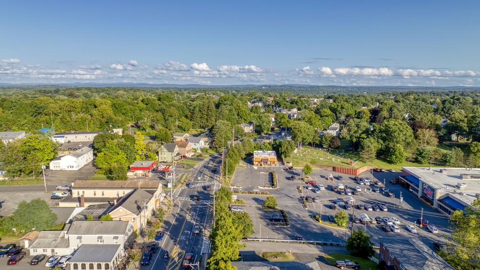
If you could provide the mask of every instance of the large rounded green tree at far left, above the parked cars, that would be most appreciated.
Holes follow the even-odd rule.
[[[19,232],[32,229],[40,231],[55,226],[56,220],[57,215],[52,212],[47,202],[37,198],[29,203],[21,201],[11,215],[8,226],[16,228]]]

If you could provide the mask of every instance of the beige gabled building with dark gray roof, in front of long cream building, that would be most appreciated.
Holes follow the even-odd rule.
[[[127,195],[115,201],[109,210],[113,220],[129,221],[135,229],[141,229],[157,208],[158,200],[141,188],[130,191]]]

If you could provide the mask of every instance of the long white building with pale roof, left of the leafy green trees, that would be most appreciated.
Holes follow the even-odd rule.
[[[53,159],[50,162],[50,169],[78,170],[92,161],[93,149],[90,147],[83,147],[69,155]]]

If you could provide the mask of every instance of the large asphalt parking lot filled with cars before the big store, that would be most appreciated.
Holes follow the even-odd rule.
[[[381,225],[366,223],[364,225],[360,223],[354,223],[354,229],[362,228],[368,235],[372,236],[372,242],[378,244],[379,237],[406,237],[413,236],[419,237],[427,246],[431,247],[432,242],[441,241],[443,233],[450,233],[448,229],[448,217],[440,214],[437,210],[431,209],[428,205],[422,203],[414,194],[408,191],[408,189],[401,187],[400,185],[393,185],[389,181],[395,176],[399,176],[400,172],[373,172],[367,171],[360,175],[360,177],[370,177],[372,180],[378,180],[381,185],[359,185],[354,180],[354,176],[340,174],[343,180],[338,180],[338,173],[332,171],[326,171],[322,169],[314,169],[314,172],[309,176],[311,180],[317,184],[321,184],[325,187],[325,190],[321,190],[319,193],[315,193],[314,189],[308,189],[305,182],[300,182],[302,172],[300,169],[285,170],[284,168],[242,168],[242,172],[239,176],[245,176],[243,184],[248,183],[248,187],[254,187],[260,185],[259,178],[256,176],[261,175],[260,172],[276,171],[278,176],[278,188],[276,189],[260,189],[261,191],[269,191],[273,194],[278,202],[278,208],[285,210],[288,215],[290,226],[276,226],[270,221],[272,214],[264,211],[261,208],[263,204],[264,196],[250,196],[250,195],[238,195],[239,199],[244,199],[247,205],[244,208],[248,212],[254,222],[254,235],[252,237],[261,238],[277,238],[277,239],[295,239],[296,235],[301,235],[305,240],[313,241],[332,241],[343,242],[350,235],[350,228],[352,223],[349,222],[348,228],[335,228],[325,225],[320,225],[313,220],[313,215],[320,215],[322,222],[329,222],[328,216],[334,215],[340,209],[345,210],[346,198],[352,197],[355,199],[356,204],[373,205],[381,203],[385,205],[387,211],[367,211],[365,209],[351,209],[345,210],[350,217],[354,214],[360,217],[360,214],[365,213],[371,219],[375,219],[376,216],[380,217],[396,217],[400,221],[400,232],[385,232],[382,230]],[[326,175],[328,173],[333,174],[335,180],[327,180]],[[237,172],[236,172],[237,174]],[[289,180],[291,176],[295,176],[296,179]],[[249,178],[247,179],[248,176]],[[385,189],[393,192],[395,197],[388,197],[388,194],[383,194],[383,182],[385,179]],[[255,182],[257,181],[257,182]],[[355,188],[359,186],[361,191],[358,195],[340,195],[338,192],[332,191],[332,187],[341,183],[344,186]],[[298,187],[301,187],[299,191]],[[370,188],[379,188],[379,193],[371,191]],[[234,190],[247,190],[245,187],[234,188]],[[400,192],[403,197],[400,208]],[[301,198],[303,196],[319,197],[318,202],[309,202],[308,208],[304,208],[301,204]],[[330,209],[330,205],[336,200],[340,200],[340,206],[336,210]],[[438,234],[431,233],[424,228],[419,228],[418,223],[415,224],[417,218],[422,215],[423,218],[430,221],[430,225],[434,225],[439,229]],[[272,226],[274,225],[274,226]],[[333,225],[333,224],[332,224]],[[406,229],[406,225],[416,225],[417,233],[412,233]],[[261,234],[261,235],[260,235]]]

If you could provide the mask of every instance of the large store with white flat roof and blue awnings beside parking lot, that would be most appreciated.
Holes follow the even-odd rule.
[[[480,197],[480,168],[402,167],[400,180],[412,193],[445,214]]]

